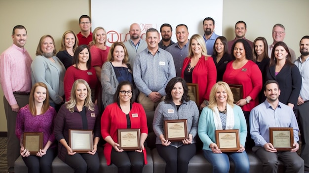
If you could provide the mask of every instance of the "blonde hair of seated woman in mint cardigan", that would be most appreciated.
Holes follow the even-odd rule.
[[[215,107],[218,106],[217,100],[216,100],[216,92],[219,87],[223,87],[223,89],[227,92],[228,94],[228,100],[227,104],[230,104],[231,106],[234,106],[234,98],[233,98],[233,93],[231,91],[230,86],[226,82],[217,82],[214,84],[214,86],[211,88],[210,94],[209,94],[209,105],[208,107],[211,109],[214,109]]]

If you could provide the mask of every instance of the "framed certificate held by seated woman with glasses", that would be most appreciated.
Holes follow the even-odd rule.
[[[118,129],[118,144],[124,151],[141,150],[141,130]]]

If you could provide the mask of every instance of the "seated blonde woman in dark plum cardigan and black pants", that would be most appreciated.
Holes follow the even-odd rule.
[[[74,169],[75,173],[97,173],[100,139],[99,111],[91,101],[91,89],[83,79],[77,79],[71,90],[70,101],[63,104],[55,119],[54,134],[58,142],[58,157]],[[73,152],[69,146],[69,130],[92,130],[93,146],[87,153]]]

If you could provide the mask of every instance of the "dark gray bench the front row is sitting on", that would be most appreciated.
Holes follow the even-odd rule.
[[[165,172],[165,161],[159,156],[155,148],[155,134],[153,131],[153,118],[154,111],[148,111],[147,124],[148,124],[148,138],[146,140],[147,149],[147,160],[148,164],[144,166],[144,173],[164,173]],[[103,148],[98,148],[100,158],[100,173],[117,173],[117,167],[112,164],[111,166],[106,165],[106,159],[103,155]],[[262,173],[262,163],[260,159],[255,156],[254,153],[248,152],[250,162],[250,173]],[[62,162],[56,157],[52,163],[53,173],[74,173],[73,169]],[[278,173],[284,173],[285,168],[282,162],[279,164]],[[198,150],[196,155],[189,162],[189,173],[212,173],[212,165],[204,158],[202,151]],[[21,156],[15,161],[15,173],[28,173]],[[231,162],[230,173],[234,173],[234,164]]]

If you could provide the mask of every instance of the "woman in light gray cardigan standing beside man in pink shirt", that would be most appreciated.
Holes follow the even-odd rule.
[[[56,55],[55,41],[51,35],[43,35],[39,40],[37,57],[31,64],[32,84],[43,82],[49,93],[49,104],[58,112],[64,101],[63,78],[65,67]]]

